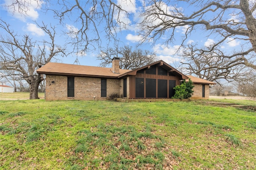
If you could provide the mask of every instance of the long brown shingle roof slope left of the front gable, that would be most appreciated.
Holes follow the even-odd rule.
[[[120,74],[129,72],[130,70],[120,69]],[[73,76],[99,76],[99,77],[117,77],[120,74],[112,72],[112,68],[82,66],[75,64],[63,63],[47,63],[38,70],[39,74],[56,74],[56,75],[73,75]]]

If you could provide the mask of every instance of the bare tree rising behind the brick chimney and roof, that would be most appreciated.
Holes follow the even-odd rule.
[[[127,45],[120,48],[110,47],[106,51],[101,51],[97,56],[98,60],[101,60],[100,66],[103,67],[112,63],[114,57],[120,58],[120,68],[128,70],[134,70],[156,61],[155,53],[142,49],[132,50],[132,47]]]

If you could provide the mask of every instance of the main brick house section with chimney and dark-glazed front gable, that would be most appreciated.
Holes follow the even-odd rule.
[[[46,100],[172,98],[173,88],[188,79],[162,60],[136,70],[120,69],[119,62],[115,57],[112,68],[47,63],[37,73],[46,74]]]

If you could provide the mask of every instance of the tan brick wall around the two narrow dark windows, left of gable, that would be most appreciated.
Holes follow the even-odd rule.
[[[54,83],[52,83],[54,81]],[[107,98],[112,94],[121,95],[122,80],[107,79]],[[106,100],[101,97],[101,79],[88,77],[74,78],[74,97],[68,96],[66,76],[46,75],[46,100]]]

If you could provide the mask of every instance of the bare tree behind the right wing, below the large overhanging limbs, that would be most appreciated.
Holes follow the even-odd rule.
[[[220,86],[222,80],[247,81],[246,77],[255,72],[253,68],[245,66],[243,60],[237,59],[238,57],[237,60],[220,57],[223,56],[223,52],[218,49],[202,51],[192,44],[187,45],[185,49],[182,53],[180,70],[186,74],[196,74],[199,78],[217,82]]]

